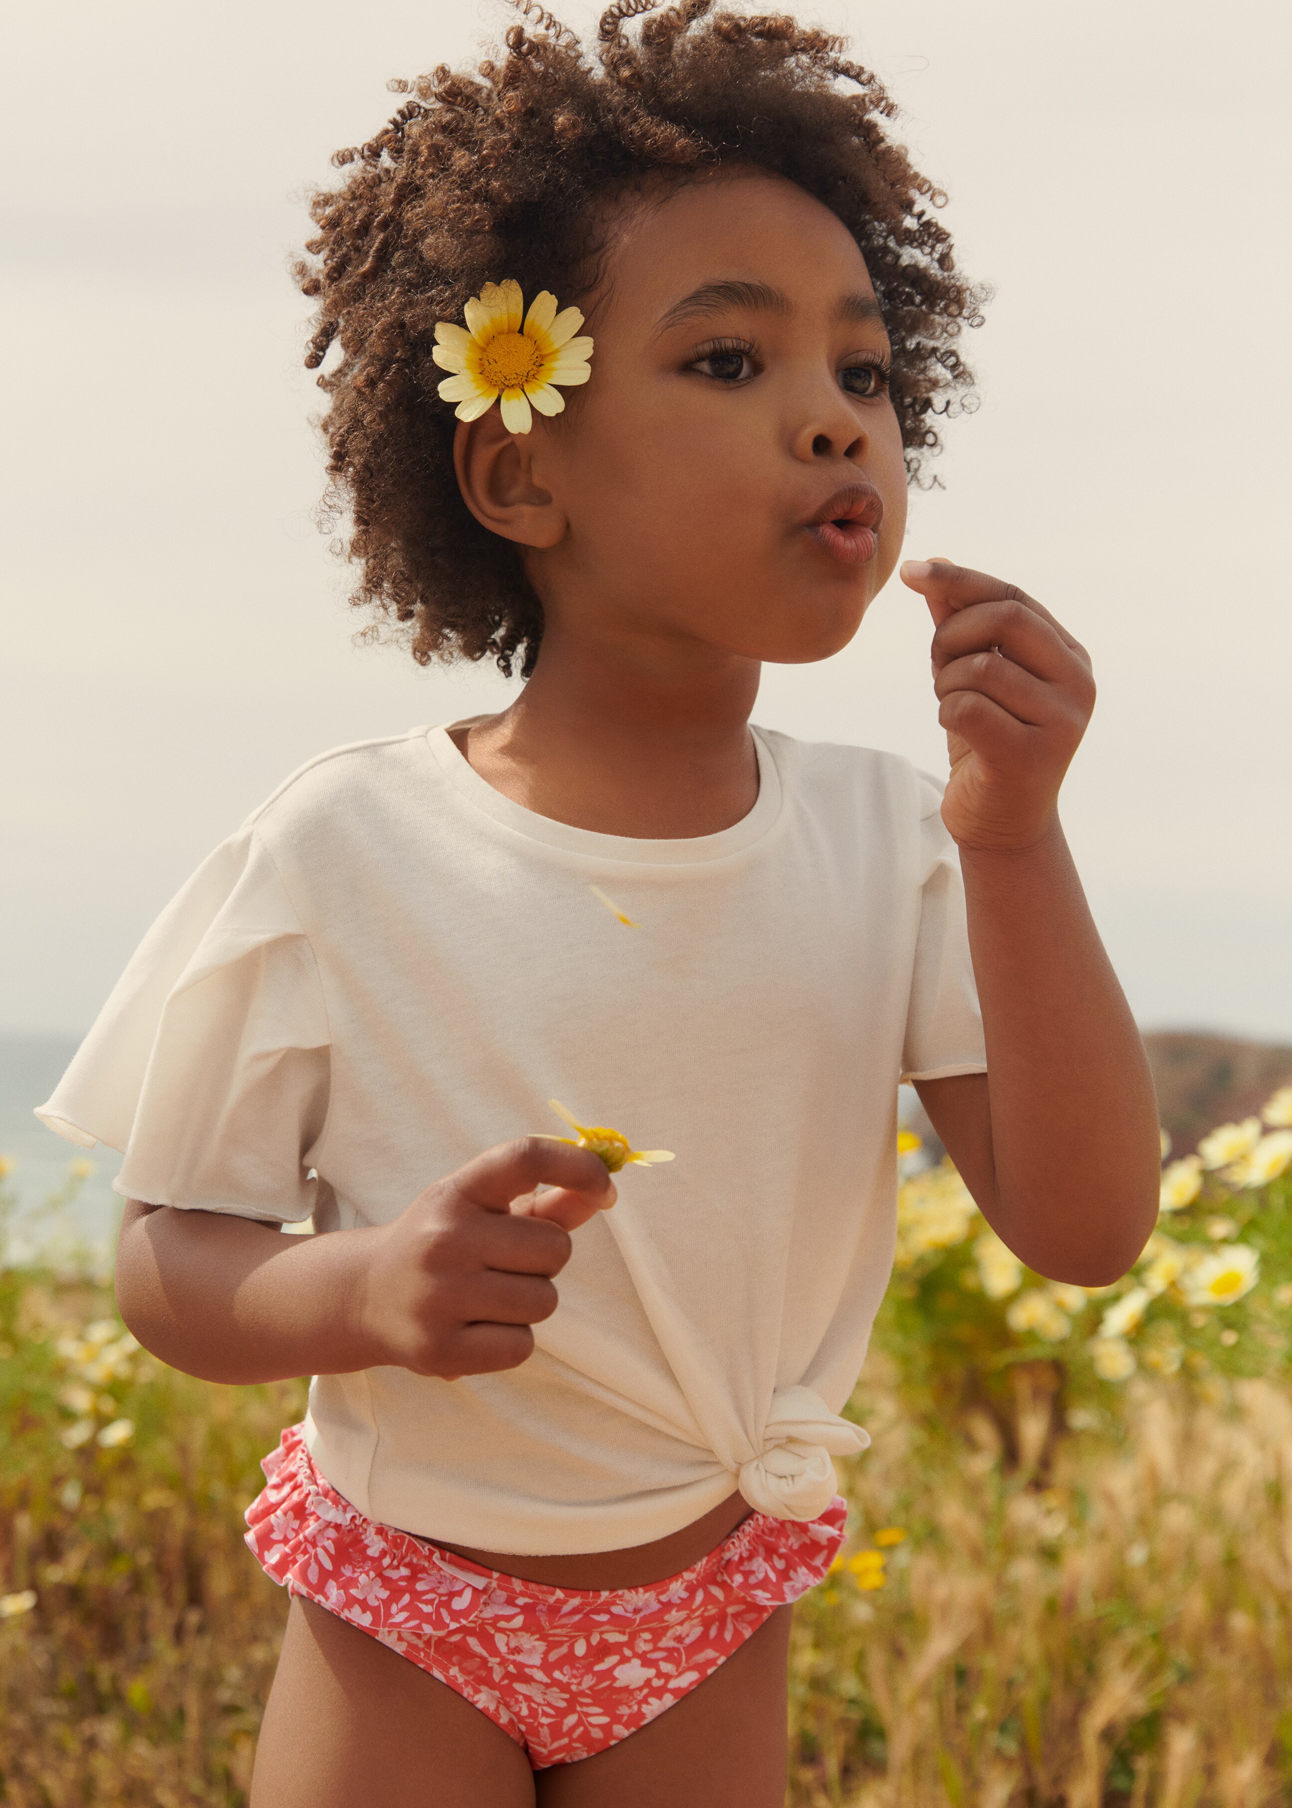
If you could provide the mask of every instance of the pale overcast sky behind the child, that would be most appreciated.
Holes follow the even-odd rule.
[[[593,16],[564,7],[571,24]],[[1292,1040],[1283,347],[1292,27],[1274,0],[835,0],[996,287],[907,553],[1091,649],[1064,819],[1140,1022]],[[293,767],[499,707],[356,649],[286,266],[329,154],[510,14],[473,0],[42,0],[0,42],[0,1031],[81,1032]],[[757,720],[945,772],[923,604],[770,669]]]

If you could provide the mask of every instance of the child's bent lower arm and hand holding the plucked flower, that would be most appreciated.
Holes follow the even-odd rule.
[[[596,1155],[524,1137],[370,1229],[282,1237],[251,1219],[130,1201],[117,1305],[145,1349],[206,1381],[387,1363],[450,1381],[515,1369],[533,1349],[529,1327],[557,1309],[569,1231],[614,1199]]]

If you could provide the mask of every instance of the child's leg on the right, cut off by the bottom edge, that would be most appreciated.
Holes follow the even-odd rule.
[[[535,1777],[538,1808],[784,1808],[791,1607],[658,1719]]]

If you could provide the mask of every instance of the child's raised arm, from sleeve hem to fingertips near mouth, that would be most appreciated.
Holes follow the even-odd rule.
[[[1059,826],[1095,702],[1082,647],[1012,584],[949,560],[902,577],[932,613],[934,689],[987,1074],[918,1085],[992,1228],[1028,1267],[1104,1285],[1156,1222],[1147,1056]]]

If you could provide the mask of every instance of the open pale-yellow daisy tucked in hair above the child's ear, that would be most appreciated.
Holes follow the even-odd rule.
[[[441,401],[455,401],[459,421],[473,421],[502,398],[502,425],[510,434],[533,427],[529,403],[538,414],[560,414],[566,398],[555,389],[585,383],[593,374],[591,338],[575,338],[584,324],[576,307],[557,313],[557,297],[544,289],[524,315],[520,284],[486,282],[466,304],[466,325],[435,324],[432,353],[441,371]]]

